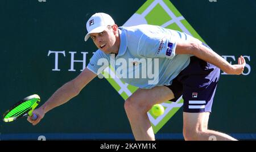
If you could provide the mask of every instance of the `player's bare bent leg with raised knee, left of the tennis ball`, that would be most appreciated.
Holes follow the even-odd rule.
[[[125,111],[135,140],[155,140],[147,112],[152,105],[173,98],[174,94],[170,88],[158,86],[151,89],[138,89],[125,101]]]

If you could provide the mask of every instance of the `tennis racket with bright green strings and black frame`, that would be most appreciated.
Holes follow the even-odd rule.
[[[26,98],[20,100],[18,103],[14,104],[8,111],[3,114],[3,121],[11,122],[19,117],[32,117],[32,120],[36,120],[38,116],[35,113],[32,113],[36,106],[40,102],[39,95],[30,95]]]

